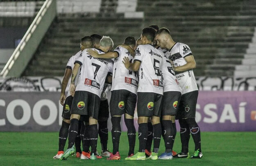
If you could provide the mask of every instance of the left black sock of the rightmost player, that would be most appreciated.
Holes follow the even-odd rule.
[[[180,136],[181,136],[181,152],[188,153],[188,142],[190,139],[190,129],[186,120],[179,120]]]

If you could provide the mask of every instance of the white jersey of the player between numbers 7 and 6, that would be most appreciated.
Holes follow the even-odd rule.
[[[114,51],[118,53],[118,57],[114,60],[111,91],[125,89],[137,94],[138,78],[135,72],[127,70],[122,63],[123,58],[128,57],[131,62],[133,57],[127,49],[121,46],[118,46]]]

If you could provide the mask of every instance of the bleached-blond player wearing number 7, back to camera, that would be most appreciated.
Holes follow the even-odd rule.
[[[100,46],[97,49],[99,53],[109,52],[113,48],[113,40],[103,36],[100,40]],[[81,67],[81,73],[75,86],[75,77],[77,71]],[[72,71],[70,84],[70,93],[74,96],[71,107],[70,128],[68,134],[68,149],[60,159],[66,159],[75,153],[74,142],[78,129],[78,121],[80,116],[87,115],[89,118],[89,136],[91,145],[90,159],[96,158],[96,147],[98,139],[97,119],[100,107],[100,95],[103,90],[104,82],[107,74],[113,71],[113,61],[93,58],[88,55],[86,49],[82,51],[82,55],[75,61]],[[89,149],[83,149],[88,152]]]

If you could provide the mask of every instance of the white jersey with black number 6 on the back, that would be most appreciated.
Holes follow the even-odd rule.
[[[164,54],[151,44],[139,45],[134,61],[141,62],[137,92],[152,92],[163,95],[163,82],[160,66]]]

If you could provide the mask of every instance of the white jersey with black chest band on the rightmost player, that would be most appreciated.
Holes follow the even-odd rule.
[[[192,55],[192,52],[188,45],[184,43],[175,43],[172,48],[165,53],[165,55],[172,60],[174,66],[183,66],[187,64],[185,57]],[[184,71],[182,73],[176,73],[179,85],[182,89],[182,94],[198,91],[197,82],[192,69]]]

